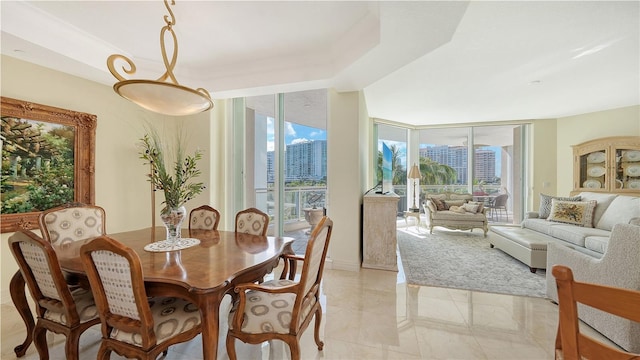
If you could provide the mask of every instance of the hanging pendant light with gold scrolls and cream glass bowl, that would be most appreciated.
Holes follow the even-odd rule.
[[[198,88],[191,89],[178,84],[173,68],[178,59],[178,39],[173,31],[176,24],[173,11],[169,7],[168,0],[164,0],[164,5],[169,15],[164,16],[166,25],[160,30],[160,48],[162,50],[162,60],[164,61],[167,71],[157,80],[127,80],[116,70],[115,62],[124,60],[129,64],[129,69],[122,67],[127,75],[133,75],[136,72],[136,66],[124,55],[113,54],[107,58],[107,67],[111,74],[119,81],[113,85],[118,95],[130,100],[139,106],[160,114],[182,116],[193,115],[203,111],[207,111],[213,107],[211,95],[207,90]],[[175,1],[171,1],[171,5],[175,5]],[[171,61],[167,58],[165,48],[165,36],[169,32],[173,38],[173,54]]]

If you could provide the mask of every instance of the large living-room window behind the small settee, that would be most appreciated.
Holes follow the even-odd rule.
[[[428,128],[419,131],[420,199],[428,193],[472,193],[490,204],[507,194],[506,212],[491,221],[519,222],[523,200],[522,151],[526,125]],[[421,201],[422,202],[422,201]],[[500,214],[499,216],[497,214]]]

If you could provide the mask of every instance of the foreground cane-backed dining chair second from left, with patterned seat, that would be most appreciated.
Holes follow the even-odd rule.
[[[82,265],[102,322],[98,359],[111,352],[129,358],[155,359],[171,345],[201,332],[198,307],[176,297],[147,297],[140,257],[107,236],[80,248]]]

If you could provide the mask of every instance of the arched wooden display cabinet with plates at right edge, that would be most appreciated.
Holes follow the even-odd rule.
[[[640,136],[615,136],[573,146],[573,192],[640,194]]]

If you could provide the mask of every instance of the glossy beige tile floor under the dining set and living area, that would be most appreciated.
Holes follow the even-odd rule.
[[[456,289],[407,285],[402,272],[325,270],[321,338],[313,325],[302,336],[303,359],[553,359],[558,310],[548,300]],[[276,274],[280,272],[278,269]],[[228,297],[221,312],[229,309]],[[1,305],[1,359],[15,359],[13,347],[25,336],[12,304]],[[224,348],[221,321],[218,358]],[[80,340],[81,359],[100,346],[99,325]],[[593,330],[587,329],[590,333]],[[64,337],[49,335],[51,359],[64,359]],[[279,341],[236,343],[240,359],[287,359]],[[112,359],[120,359],[113,354]],[[170,348],[166,359],[201,359],[201,338]],[[23,359],[38,359],[33,345]]]

